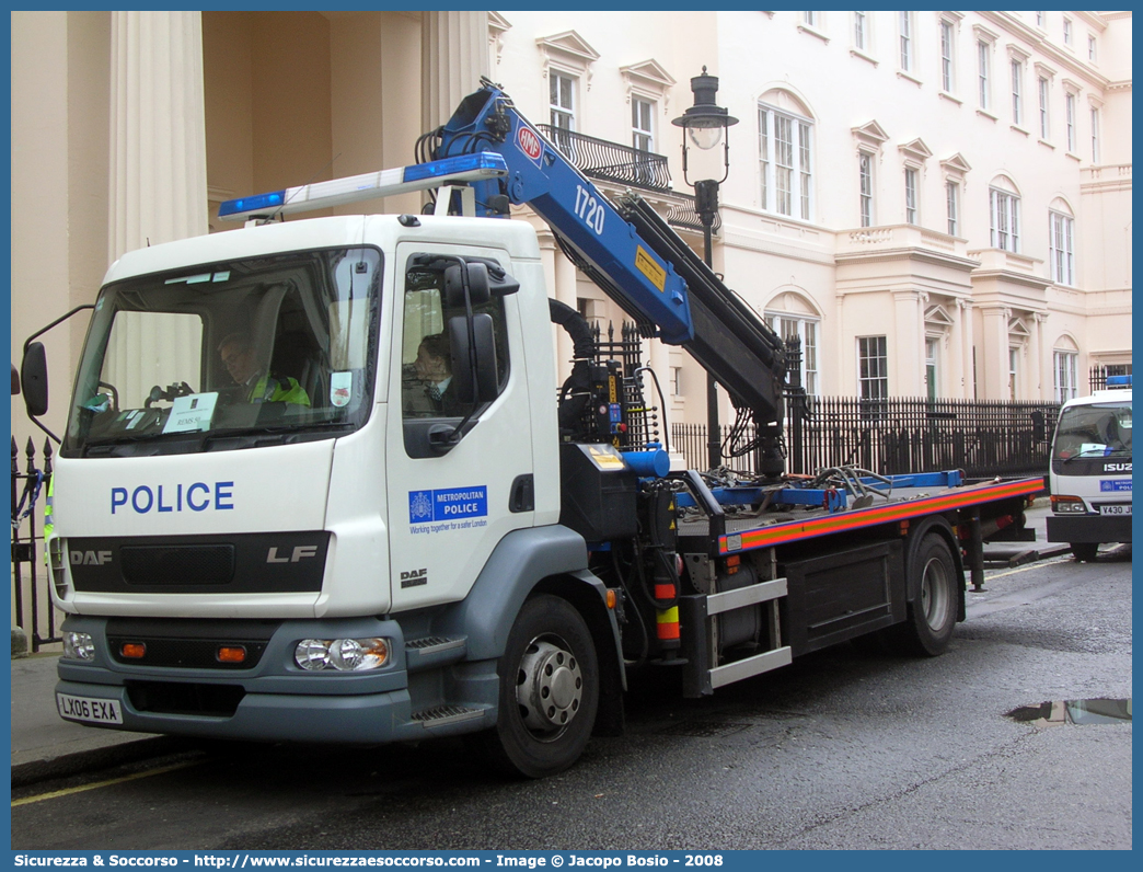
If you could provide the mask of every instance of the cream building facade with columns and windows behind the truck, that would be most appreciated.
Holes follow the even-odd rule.
[[[810,393],[1052,401],[1087,393],[1092,366],[1130,366],[1129,11],[29,11],[11,25],[14,360],[94,299],[119,254],[222,232],[225,199],[413,162],[481,76],[569,153],[618,156],[585,169],[640,191],[701,251],[688,181],[721,176],[722,151],[692,148],[685,177],[671,120],[706,66],[738,119],[714,268],[801,339]],[[535,223],[552,295],[618,322]],[[80,320],[48,341],[57,431]],[[671,422],[704,421],[697,365],[657,342],[647,355]],[[15,399],[13,421],[29,429]]]

